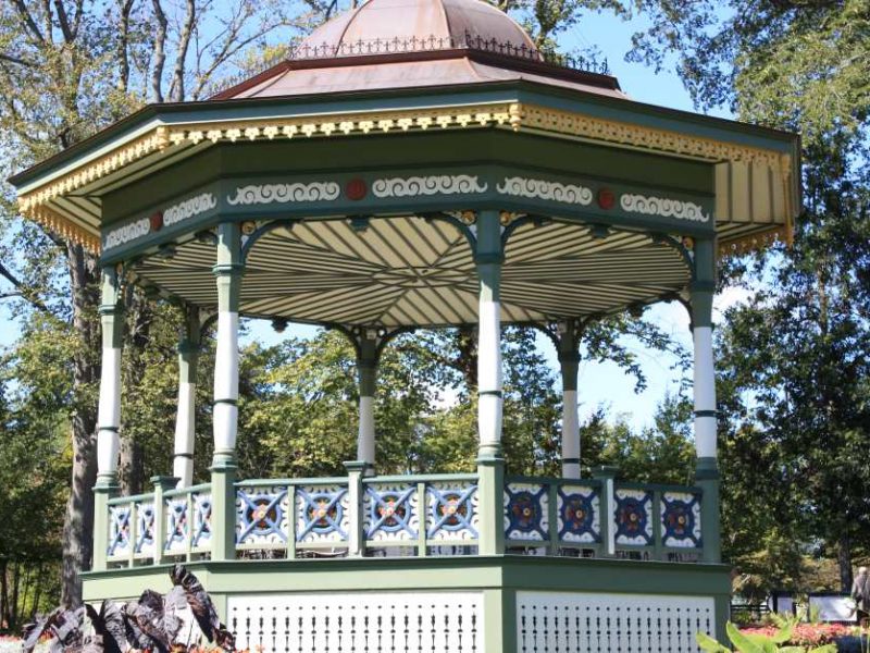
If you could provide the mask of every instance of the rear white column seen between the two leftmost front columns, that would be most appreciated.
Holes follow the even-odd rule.
[[[192,307],[188,308],[185,333],[178,343],[178,412],[175,419],[175,448],[172,467],[173,477],[178,479],[178,488],[189,488],[194,484],[199,329],[199,310]]]

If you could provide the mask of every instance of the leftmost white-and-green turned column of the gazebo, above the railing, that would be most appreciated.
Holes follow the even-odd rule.
[[[121,428],[121,342],[123,310],[120,280],[114,268],[102,270],[102,366],[97,412],[97,484],[110,486],[117,480],[119,429]]]

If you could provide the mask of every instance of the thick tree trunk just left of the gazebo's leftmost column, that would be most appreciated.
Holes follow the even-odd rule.
[[[67,244],[70,289],[73,295],[73,328],[82,338],[73,358],[73,390],[76,396],[72,415],[73,470],[70,501],[63,521],[63,566],[61,603],[82,605],[80,572],[90,565],[94,550],[94,493],[97,482],[97,414],[94,402],[84,399],[100,378],[97,353],[101,350],[99,278],[94,257],[80,245]],[[102,545],[102,544],[101,544]]]

